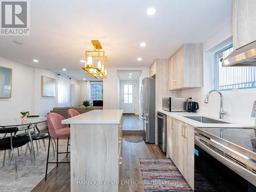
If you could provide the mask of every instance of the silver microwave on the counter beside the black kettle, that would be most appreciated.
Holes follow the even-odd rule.
[[[186,98],[163,97],[162,109],[169,112],[186,112]]]

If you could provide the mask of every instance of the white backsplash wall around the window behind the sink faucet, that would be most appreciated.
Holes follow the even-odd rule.
[[[207,92],[214,89],[214,53],[216,49],[221,49],[219,45],[225,47],[230,44],[231,36],[232,25],[230,23],[204,42],[204,87],[181,91],[183,97],[192,96],[195,101],[199,102],[199,113],[219,117],[220,96],[216,93],[210,95],[208,104],[204,103],[204,99]],[[223,109],[228,113],[225,119],[232,122],[254,123],[255,119],[251,118],[250,114],[253,101],[256,100],[256,89],[222,91],[222,94]]]

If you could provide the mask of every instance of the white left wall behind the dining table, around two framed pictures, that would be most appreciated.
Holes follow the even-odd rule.
[[[57,74],[55,72],[33,68],[3,57],[0,57],[0,63],[3,67],[12,68],[12,97],[0,99],[1,119],[20,118],[20,112],[23,111],[30,111],[31,115],[46,116],[54,106],[57,106]],[[41,96],[42,75],[56,79],[55,97]]]

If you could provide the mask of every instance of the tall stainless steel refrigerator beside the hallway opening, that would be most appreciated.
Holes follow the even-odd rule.
[[[155,143],[156,134],[156,79],[146,77],[142,80],[140,90],[140,103],[142,107],[143,139],[148,143]]]

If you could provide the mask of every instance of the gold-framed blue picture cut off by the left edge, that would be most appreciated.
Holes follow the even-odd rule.
[[[12,97],[12,69],[0,66],[0,98]]]

